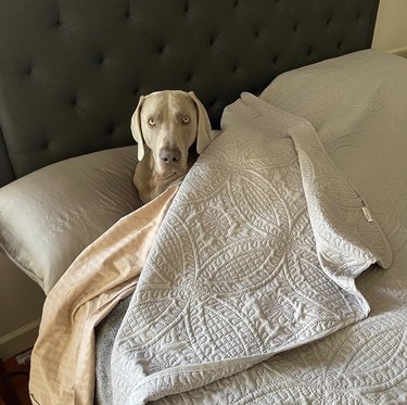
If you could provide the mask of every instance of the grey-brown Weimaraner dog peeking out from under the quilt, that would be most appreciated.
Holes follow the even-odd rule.
[[[139,161],[133,183],[144,204],[180,181],[212,141],[206,110],[192,91],[141,96],[130,127]]]

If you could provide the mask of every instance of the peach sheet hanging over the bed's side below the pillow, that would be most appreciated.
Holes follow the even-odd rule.
[[[52,289],[31,356],[29,392],[33,403],[92,403],[93,328],[135,291],[178,188],[178,185],[170,187],[122,218],[76,258]],[[126,254],[128,252],[131,254]]]

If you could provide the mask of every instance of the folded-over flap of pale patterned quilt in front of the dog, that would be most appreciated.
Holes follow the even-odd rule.
[[[222,128],[140,276],[113,349],[115,404],[214,381],[196,403],[247,403],[259,371],[240,372],[232,392],[221,379],[367,317],[355,278],[391,263],[371,211],[305,119],[246,93]]]

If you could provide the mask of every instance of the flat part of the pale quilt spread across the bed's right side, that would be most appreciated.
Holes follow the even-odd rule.
[[[305,118],[369,204],[392,265],[356,280],[369,316],[157,404],[407,403],[407,60],[367,50],[288,72],[260,94]]]

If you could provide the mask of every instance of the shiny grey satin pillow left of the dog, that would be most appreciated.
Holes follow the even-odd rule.
[[[137,147],[43,167],[0,189],[0,248],[48,293],[75,257],[141,206]]]

